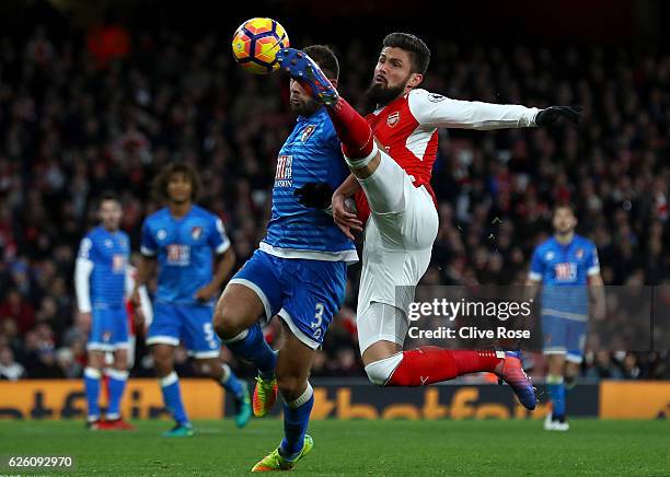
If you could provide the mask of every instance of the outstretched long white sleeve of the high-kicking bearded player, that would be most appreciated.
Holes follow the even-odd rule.
[[[408,96],[409,110],[420,125],[438,128],[505,129],[535,126],[536,107],[451,100],[441,94],[415,90]]]

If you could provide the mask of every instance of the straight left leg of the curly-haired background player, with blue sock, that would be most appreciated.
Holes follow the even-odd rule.
[[[165,344],[152,345],[151,357],[155,374],[161,384],[163,402],[176,421],[176,426],[163,435],[170,438],[193,435],[193,426],[186,416],[186,409],[184,408],[180,391],[178,376],[174,371],[174,346]]]

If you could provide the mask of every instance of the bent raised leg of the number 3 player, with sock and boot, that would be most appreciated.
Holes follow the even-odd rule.
[[[229,283],[217,303],[213,325],[217,335],[232,352],[258,369],[253,411],[256,417],[264,417],[277,399],[277,357],[265,341],[258,324],[258,318],[266,316],[269,310],[252,287],[253,283]]]

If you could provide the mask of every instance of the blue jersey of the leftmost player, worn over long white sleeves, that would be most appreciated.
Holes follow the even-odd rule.
[[[109,232],[97,226],[84,236],[79,246],[78,258],[93,264],[90,276],[92,306],[124,306],[129,257],[130,241],[123,231]]]

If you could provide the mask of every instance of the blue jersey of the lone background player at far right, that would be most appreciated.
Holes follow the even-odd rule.
[[[529,278],[542,281],[542,313],[570,318],[588,317],[588,277],[600,274],[598,251],[591,241],[575,235],[563,245],[555,237],[533,253]]]

